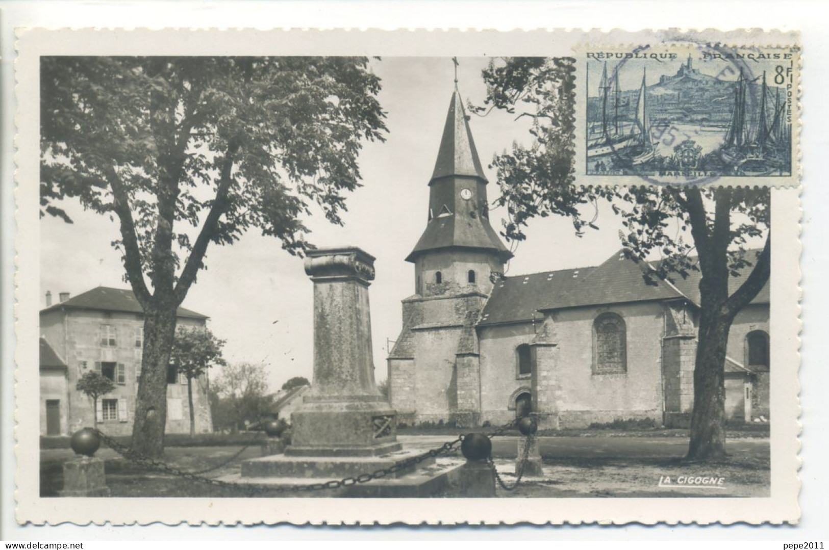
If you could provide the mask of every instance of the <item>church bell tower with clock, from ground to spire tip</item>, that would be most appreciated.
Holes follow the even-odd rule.
[[[402,424],[477,426],[481,374],[475,325],[512,253],[489,224],[487,177],[457,88],[429,179],[426,228],[406,261],[414,294],[388,358]]]

